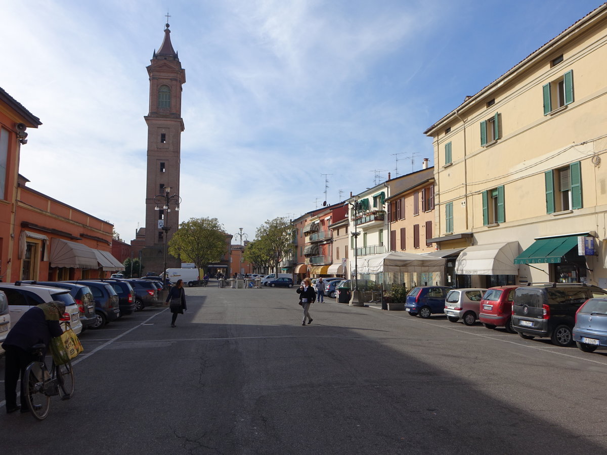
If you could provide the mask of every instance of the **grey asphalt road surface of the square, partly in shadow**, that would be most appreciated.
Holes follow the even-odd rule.
[[[302,326],[293,289],[186,294],[175,328],[147,308],[84,332],[44,422],[0,403],[2,453],[607,453],[607,351],[330,299]]]

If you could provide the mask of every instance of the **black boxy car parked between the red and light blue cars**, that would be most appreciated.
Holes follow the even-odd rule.
[[[569,346],[575,312],[593,297],[607,297],[607,291],[585,283],[521,286],[514,291],[512,328],[526,340],[550,338],[554,345]]]

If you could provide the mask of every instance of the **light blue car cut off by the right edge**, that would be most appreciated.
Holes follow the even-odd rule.
[[[573,340],[584,352],[607,346],[607,297],[589,298],[578,308]]]

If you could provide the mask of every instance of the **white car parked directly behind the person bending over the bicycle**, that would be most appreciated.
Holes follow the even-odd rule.
[[[24,285],[17,282],[15,284],[0,283],[0,291],[6,294],[8,300],[8,313],[10,314],[11,325],[15,325],[24,312],[32,308],[32,306],[56,300],[66,304],[66,312],[60,319],[60,322],[69,322],[76,335],[82,331],[80,310],[67,289],[41,285]]]

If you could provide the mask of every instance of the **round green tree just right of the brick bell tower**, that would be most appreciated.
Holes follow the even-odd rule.
[[[202,277],[212,262],[226,254],[226,234],[217,218],[190,218],[179,224],[169,241],[169,253],[182,262],[193,262]]]

